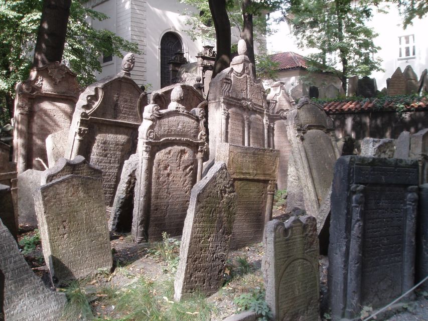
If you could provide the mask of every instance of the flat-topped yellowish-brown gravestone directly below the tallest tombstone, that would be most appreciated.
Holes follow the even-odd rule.
[[[271,148],[217,146],[215,160],[226,163],[238,194],[231,249],[261,241],[264,224],[272,219],[278,158],[279,152]]]

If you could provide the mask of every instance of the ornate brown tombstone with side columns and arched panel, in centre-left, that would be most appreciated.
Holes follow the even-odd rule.
[[[160,241],[162,232],[183,232],[190,191],[202,178],[205,112],[187,111],[175,102],[168,109],[147,105],[139,127],[139,164],[135,172],[132,237]]]

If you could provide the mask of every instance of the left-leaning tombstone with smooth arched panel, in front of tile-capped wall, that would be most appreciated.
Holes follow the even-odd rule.
[[[334,163],[340,156],[333,120],[322,107],[304,97],[288,115],[287,132],[306,212],[323,227],[329,211],[319,215],[319,210],[328,200]]]

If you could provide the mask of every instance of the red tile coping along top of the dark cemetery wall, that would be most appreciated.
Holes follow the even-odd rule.
[[[355,111],[375,111],[379,110],[379,106],[376,107],[378,98],[369,98],[362,101],[330,101],[323,105],[323,108],[328,113],[336,112],[355,112]],[[381,110],[395,110],[394,106],[397,104],[403,104],[403,98],[391,98],[386,100],[382,105]],[[424,110],[428,109],[428,98],[422,97],[419,101],[413,101],[410,104],[403,104],[406,109],[410,110]]]

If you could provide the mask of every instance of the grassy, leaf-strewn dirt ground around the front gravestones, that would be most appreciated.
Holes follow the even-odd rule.
[[[284,221],[289,218],[284,214],[286,202],[286,192],[277,191],[274,219]],[[195,293],[174,302],[180,239],[168,238],[165,233],[163,236],[163,242],[135,244],[130,233],[110,233],[114,271],[100,270],[90,278],[72,281],[67,287],[58,288],[57,291],[64,291],[68,298],[63,320],[220,321],[247,309],[269,315],[261,273],[262,243],[229,251],[224,284],[217,293],[208,298]],[[21,225],[18,239],[20,249],[33,271],[51,286],[37,228]],[[327,256],[320,256],[319,267],[321,320],[327,321],[331,319],[327,308]],[[364,306],[361,319],[370,315],[370,311],[370,306]],[[259,318],[268,319],[263,316]],[[416,290],[414,302],[377,320],[428,321],[428,293]]]

